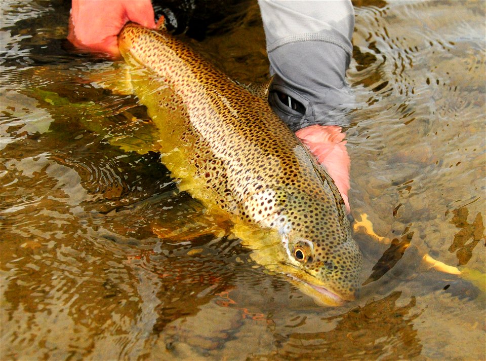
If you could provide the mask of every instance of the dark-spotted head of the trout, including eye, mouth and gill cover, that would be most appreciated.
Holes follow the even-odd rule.
[[[261,212],[258,221],[275,230],[275,235],[264,246],[250,247],[255,250],[253,259],[257,263],[288,276],[316,303],[336,306],[355,299],[362,255],[351,237],[342,198],[337,190],[328,190],[273,189],[260,193],[248,208],[258,215],[259,205],[272,199],[277,210]]]

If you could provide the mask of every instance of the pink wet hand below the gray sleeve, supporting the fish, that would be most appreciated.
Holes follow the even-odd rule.
[[[344,140],[346,134],[341,131],[342,128],[337,125],[311,125],[298,130],[295,135],[333,178],[349,213],[351,211],[348,200],[351,161]]]

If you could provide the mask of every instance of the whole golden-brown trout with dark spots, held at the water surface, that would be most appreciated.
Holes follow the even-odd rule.
[[[165,31],[128,24],[118,43],[180,187],[227,212],[235,229],[273,230],[278,249],[255,259],[304,293],[327,304],[353,299],[362,259],[342,197],[267,101]],[[244,233],[243,243],[263,255]]]

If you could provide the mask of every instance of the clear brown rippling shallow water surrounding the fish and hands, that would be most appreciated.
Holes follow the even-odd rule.
[[[362,295],[321,308],[128,151],[145,110],[88,79],[110,63],[69,52],[68,4],[2,2],[1,358],[484,359],[484,287],[421,257],[484,273],[485,5],[355,5],[351,207],[391,244],[358,231]],[[210,30],[265,78],[256,4]]]

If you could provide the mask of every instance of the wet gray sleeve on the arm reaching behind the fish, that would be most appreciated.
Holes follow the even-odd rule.
[[[274,75],[269,102],[297,131],[313,124],[348,125],[354,97],[346,83],[354,11],[349,0],[259,0]]]

